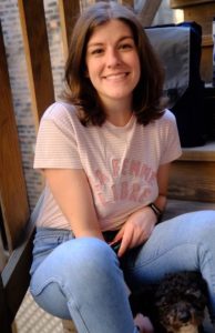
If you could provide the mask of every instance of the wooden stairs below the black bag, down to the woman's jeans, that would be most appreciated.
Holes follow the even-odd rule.
[[[173,162],[165,219],[198,211],[215,210],[215,142],[183,149]]]

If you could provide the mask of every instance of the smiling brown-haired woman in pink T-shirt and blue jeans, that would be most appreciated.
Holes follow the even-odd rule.
[[[44,113],[34,168],[45,189],[31,293],[79,332],[152,332],[133,321],[127,289],[167,272],[201,270],[215,317],[215,212],[158,225],[170,163],[181,155],[162,104],[163,70],[132,11],[98,2],[79,18],[64,101]],[[117,255],[110,244],[120,241]],[[183,256],[186,252],[186,258]]]

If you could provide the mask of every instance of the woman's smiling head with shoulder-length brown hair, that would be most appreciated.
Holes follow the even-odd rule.
[[[108,114],[103,108],[100,108],[98,87],[93,87],[94,81],[91,82],[88,61],[90,61],[90,67],[92,62],[91,71],[94,73],[94,70],[99,72],[105,59],[106,67],[99,73],[101,75],[99,77],[100,82],[98,82],[99,88],[101,88],[102,75],[110,81],[109,90],[113,85],[111,80],[114,79],[115,82],[119,79],[121,81],[121,78],[110,77],[110,74],[122,74],[124,79],[132,77],[132,79],[126,78],[127,82],[133,81],[133,88],[131,85],[133,89],[132,111],[135,112],[140,123],[147,124],[163,113],[164,103],[161,99],[164,80],[163,68],[134,13],[112,1],[102,6],[103,10],[99,9],[101,3],[96,6],[96,10],[94,6],[89,7],[73,30],[65,68],[68,90],[64,98],[71,103],[83,105],[79,112],[83,124],[101,125]],[[109,38],[111,39],[109,40]],[[79,47],[76,48],[76,46]],[[125,59],[126,62],[124,62]],[[111,63],[106,63],[106,61],[111,61]],[[125,92],[131,88],[129,85]],[[115,87],[112,92],[114,89]],[[127,109],[127,105],[125,108]]]

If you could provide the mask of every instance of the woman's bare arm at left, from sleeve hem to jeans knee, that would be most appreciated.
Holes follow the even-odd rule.
[[[74,235],[103,239],[84,171],[45,169],[44,176]]]

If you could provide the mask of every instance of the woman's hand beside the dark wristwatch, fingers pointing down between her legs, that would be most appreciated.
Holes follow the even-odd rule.
[[[114,238],[114,241],[122,240],[117,255],[122,256],[126,250],[143,244],[150,238],[155,223],[156,215],[150,206],[131,214]]]

